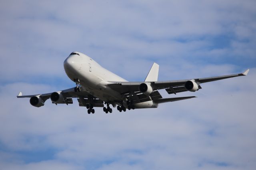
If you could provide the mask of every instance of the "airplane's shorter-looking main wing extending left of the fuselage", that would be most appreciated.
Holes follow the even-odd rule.
[[[94,107],[104,107],[103,105],[103,101],[101,101],[100,99],[90,95],[89,93],[87,93],[82,86],[80,86],[81,91],[80,92],[75,92],[74,91],[74,87],[70,88],[70,89],[66,89],[66,90],[62,90],[62,91],[57,91],[57,92],[53,92],[53,93],[45,93],[45,94],[36,94],[36,95],[22,95],[22,92],[20,92],[17,96],[17,98],[24,98],[24,97],[30,97],[32,99],[32,97],[36,97],[36,98],[40,98],[40,100],[42,99],[42,105],[44,105],[44,102],[51,98],[54,100],[52,101],[52,103],[54,104],[62,104],[65,103],[66,105],[68,104],[73,104],[73,100],[72,98],[77,98],[79,106],[84,106],[86,107],[86,105],[88,104],[93,104]],[[31,101],[30,101],[31,103]],[[31,103],[32,104],[32,103]],[[36,107],[40,107],[41,105],[35,105]]]

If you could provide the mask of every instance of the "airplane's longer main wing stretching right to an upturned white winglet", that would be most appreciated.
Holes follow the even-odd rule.
[[[228,79],[232,77],[238,77],[238,76],[244,76],[247,75],[249,72],[249,69],[244,71],[244,73],[239,74],[232,74],[232,75],[223,75],[223,76],[217,76],[217,77],[207,77],[207,78],[196,78],[196,79],[186,79],[186,80],[175,80],[175,81],[150,81],[150,82],[108,82],[108,87],[111,89],[118,91],[119,93],[126,96],[128,99],[133,98],[132,100],[136,100],[138,103],[149,101],[150,98],[141,93],[139,90],[140,85],[142,83],[148,83],[153,89],[153,92],[150,93],[150,97],[155,102],[158,99],[161,99],[162,96],[158,92],[159,89],[165,89],[168,94],[176,94],[184,91],[190,91],[188,88],[186,88],[186,83],[188,85],[191,85],[191,83],[198,88],[194,91],[197,91],[199,89],[202,89],[200,86],[201,83],[206,83],[210,81],[217,81],[221,79]],[[129,98],[130,97],[130,98]],[[158,100],[159,101],[159,100]]]

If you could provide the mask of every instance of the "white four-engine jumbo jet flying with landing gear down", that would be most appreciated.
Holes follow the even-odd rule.
[[[191,99],[195,96],[174,97],[163,99],[159,89],[165,89],[168,94],[184,91],[198,91],[200,84],[210,81],[247,75],[244,73],[218,77],[187,79],[177,81],[157,81],[159,65],[154,63],[144,82],[128,82],[122,77],[101,67],[96,61],[80,52],[72,52],[64,61],[64,69],[68,77],[76,83],[76,87],[38,95],[18,94],[18,98],[30,97],[34,107],[44,106],[47,99],[52,103],[72,104],[72,98],[77,98],[79,106],[88,109],[88,114],[94,113],[94,107],[103,107],[105,113],[112,113],[110,104],[117,106],[118,111],[126,109],[157,108],[159,103]],[[106,107],[104,107],[104,104]]]

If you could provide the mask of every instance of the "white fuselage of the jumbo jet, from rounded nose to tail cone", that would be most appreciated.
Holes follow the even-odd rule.
[[[107,86],[108,82],[127,82],[122,77],[108,71],[87,55],[73,52],[64,61],[64,69],[68,77],[76,82],[79,80],[82,90],[102,101],[125,101],[125,97]],[[126,103],[122,103],[126,105]],[[158,104],[153,101],[146,101],[135,104],[138,108],[156,108]]]

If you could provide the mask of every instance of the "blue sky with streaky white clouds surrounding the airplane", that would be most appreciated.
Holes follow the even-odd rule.
[[[254,0],[2,0],[0,21],[2,169],[256,168]],[[121,114],[16,99],[73,87],[63,68],[72,51],[129,81],[153,62],[160,81],[250,72]]]

